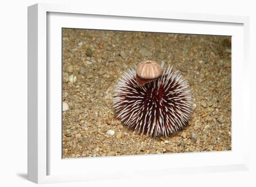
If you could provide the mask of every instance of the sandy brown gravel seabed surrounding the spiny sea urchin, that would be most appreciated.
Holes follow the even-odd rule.
[[[63,158],[231,150],[231,37],[67,28],[62,37]],[[117,80],[148,59],[189,80],[192,117],[170,137],[113,119]]]

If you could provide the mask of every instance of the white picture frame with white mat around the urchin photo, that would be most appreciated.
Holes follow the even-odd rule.
[[[145,20],[155,27],[148,27]],[[140,26],[141,23],[144,23],[143,27]],[[62,27],[232,36],[232,150],[62,159],[62,101],[59,92],[61,85],[58,85],[61,82],[61,64],[58,62],[61,58]],[[249,113],[245,109],[249,108],[249,91],[236,86],[239,84],[240,87],[249,87],[249,81],[246,81],[249,80],[248,48],[249,18],[243,16],[172,13],[147,9],[129,11],[54,4],[29,6],[28,180],[35,183],[53,183],[118,179],[137,175],[150,177],[160,176],[163,172],[192,174],[248,170],[249,132],[245,129],[249,129]],[[243,78],[236,77],[241,71]],[[243,136],[242,140],[238,141],[238,135],[240,138]],[[152,167],[147,164],[148,161],[159,161],[159,165]]]

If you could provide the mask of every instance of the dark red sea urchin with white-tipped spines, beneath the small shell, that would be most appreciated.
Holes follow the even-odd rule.
[[[114,92],[115,116],[142,134],[169,136],[182,129],[190,118],[189,83],[172,66],[143,86],[136,82],[136,71],[129,69],[118,80]]]

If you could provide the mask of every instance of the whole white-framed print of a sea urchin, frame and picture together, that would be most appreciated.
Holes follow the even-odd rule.
[[[28,179],[247,170],[249,19],[108,11],[28,7]]]

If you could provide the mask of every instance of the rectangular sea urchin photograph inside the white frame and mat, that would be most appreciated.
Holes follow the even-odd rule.
[[[231,36],[61,32],[63,159],[231,151]]]

